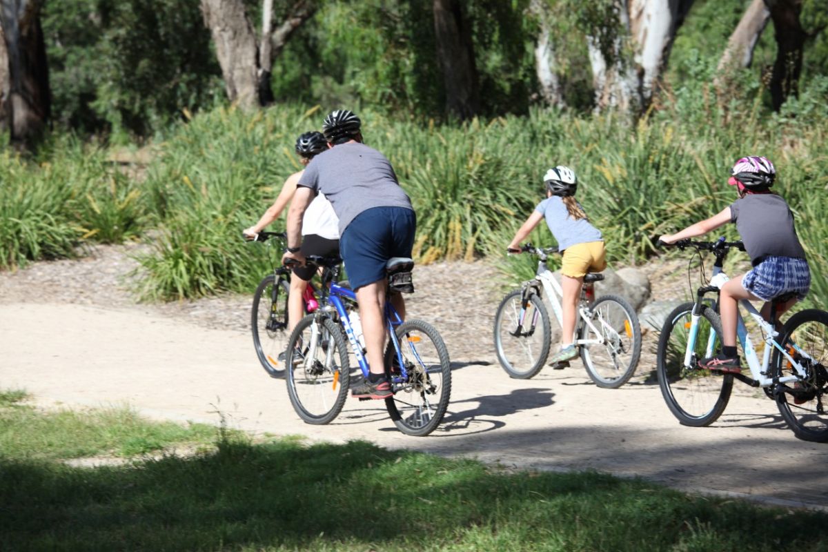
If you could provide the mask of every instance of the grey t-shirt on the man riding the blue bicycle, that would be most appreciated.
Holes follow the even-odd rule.
[[[358,142],[339,144],[315,156],[298,185],[322,192],[339,217],[339,235],[354,218],[374,207],[412,209],[382,153]]]

